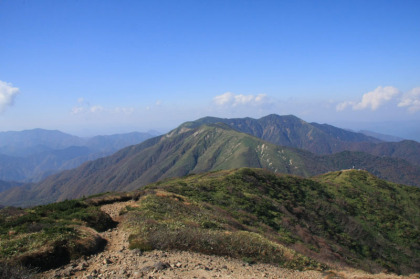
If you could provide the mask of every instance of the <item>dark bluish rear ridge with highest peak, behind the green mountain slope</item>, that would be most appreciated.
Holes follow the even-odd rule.
[[[308,150],[319,155],[342,151],[361,151],[374,156],[403,159],[420,166],[420,143],[415,141],[382,142],[381,140],[340,129],[328,124],[308,123],[293,115],[271,114],[260,119],[205,117],[187,122],[185,127],[225,123],[276,145]]]

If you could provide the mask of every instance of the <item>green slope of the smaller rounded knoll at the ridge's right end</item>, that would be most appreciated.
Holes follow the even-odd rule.
[[[347,170],[318,176],[335,203],[352,221],[343,238],[358,254],[387,268],[420,266],[420,189],[396,185],[366,171]],[[355,240],[358,240],[357,242]],[[374,243],[374,244],[372,244]]]

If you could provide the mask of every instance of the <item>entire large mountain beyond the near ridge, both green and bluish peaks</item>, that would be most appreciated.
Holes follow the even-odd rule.
[[[240,167],[304,177],[356,168],[396,183],[420,186],[419,146],[414,141],[382,142],[295,116],[206,117],[39,183],[9,189],[0,193],[0,204],[49,203]]]

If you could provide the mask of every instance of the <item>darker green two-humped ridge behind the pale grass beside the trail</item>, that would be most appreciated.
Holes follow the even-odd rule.
[[[339,261],[370,272],[380,266],[398,273],[420,267],[420,189],[366,171],[305,179],[245,168],[171,179],[146,189],[220,206],[245,228],[259,228],[266,237],[324,263]]]

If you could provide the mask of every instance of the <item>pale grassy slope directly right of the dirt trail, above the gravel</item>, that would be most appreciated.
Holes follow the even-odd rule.
[[[325,268],[263,234],[248,230],[228,212],[185,196],[148,191],[136,207],[123,213],[125,227],[131,232],[132,249],[188,250],[294,269]]]

